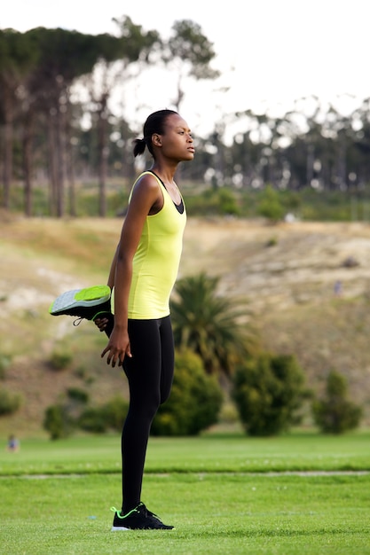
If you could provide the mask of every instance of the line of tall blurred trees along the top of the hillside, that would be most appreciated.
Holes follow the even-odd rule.
[[[119,35],[84,35],[44,27],[26,33],[0,29],[0,121],[4,126],[0,201],[6,209],[24,209],[27,215],[42,209],[48,215],[62,216],[69,205],[71,215],[85,214],[85,207],[77,207],[77,182],[92,173],[98,182],[95,209],[106,215],[106,179],[117,175],[131,179],[134,165],[127,145],[137,133],[137,121],[110,112],[114,88],[163,62],[177,82],[174,103],[178,109],[190,80],[219,75],[211,65],[216,58],[213,44],[197,23],[176,21],[166,40],[155,30],[145,32],[126,16],[115,23]],[[80,97],[78,90],[85,94]],[[208,206],[202,199],[198,207],[207,212],[216,202],[214,214],[254,212],[276,222],[290,204],[305,219],[367,219],[369,103],[369,98],[362,100],[346,116],[333,106],[321,106],[316,97],[300,99],[297,111],[277,117],[251,110],[230,113],[214,122],[209,137],[197,138],[197,156],[182,168],[182,179],[196,185],[213,180],[222,195],[229,189],[235,193],[234,199],[231,195],[219,201],[209,199]],[[87,118],[91,120],[88,131],[82,125]],[[226,121],[242,122],[230,145],[224,141]],[[43,199],[37,199],[33,183],[38,168],[47,172],[43,181],[48,191]],[[245,192],[261,192],[261,202],[240,207],[237,200]],[[316,197],[315,209],[302,202],[301,192]],[[325,194],[331,195],[332,206],[323,201]],[[335,202],[338,194],[346,199],[340,206]]]

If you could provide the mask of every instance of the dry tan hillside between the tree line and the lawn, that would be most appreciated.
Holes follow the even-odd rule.
[[[12,357],[1,385],[24,399],[16,416],[0,418],[0,435],[39,434],[45,406],[67,387],[87,388],[96,402],[125,390],[122,372],[99,358],[106,341],[93,324],[75,328],[72,318],[48,314],[59,293],[105,283],[121,224],[0,214],[0,355]],[[331,368],[342,371],[370,422],[366,223],[189,219],[180,276],[199,271],[219,276],[220,293],[246,305],[264,348],[298,356],[310,387],[319,390]],[[74,371],[51,370],[61,346]]]

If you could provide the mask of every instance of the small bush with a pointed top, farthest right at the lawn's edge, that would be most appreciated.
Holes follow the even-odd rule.
[[[347,380],[334,370],[327,376],[326,395],[312,403],[312,411],[324,434],[343,434],[356,428],[363,412],[348,398]]]

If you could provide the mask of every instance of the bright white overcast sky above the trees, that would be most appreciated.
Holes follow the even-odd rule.
[[[163,38],[177,20],[192,20],[216,51],[217,82],[186,90],[182,115],[203,133],[223,114],[254,110],[283,114],[315,95],[350,113],[370,97],[367,0],[4,0],[0,28],[24,32],[63,27],[116,34],[113,19],[129,16]],[[150,113],[174,98],[173,76],[158,70],[126,98]],[[227,91],[224,91],[227,88]],[[130,96],[130,93],[129,93]],[[135,97],[135,98],[133,98]],[[137,104],[135,104],[137,103]],[[299,106],[299,105],[297,105]],[[228,121],[225,119],[225,121]]]

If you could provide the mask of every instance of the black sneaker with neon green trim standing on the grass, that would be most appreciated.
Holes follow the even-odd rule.
[[[173,530],[173,526],[167,526],[157,517],[154,512],[148,511],[144,503],[139,503],[135,509],[122,515],[115,507],[112,532],[117,530]]]

